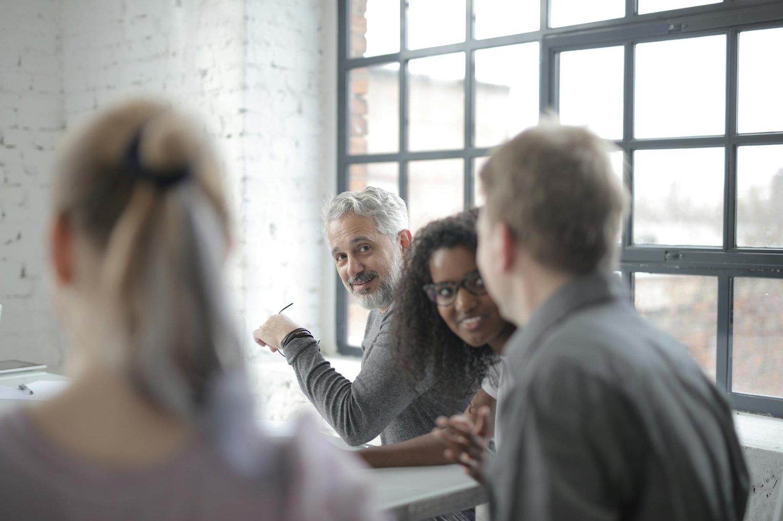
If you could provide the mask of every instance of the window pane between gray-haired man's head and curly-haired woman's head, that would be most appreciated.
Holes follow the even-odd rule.
[[[408,213],[412,232],[433,219],[463,209],[463,169],[461,159],[408,163]]]

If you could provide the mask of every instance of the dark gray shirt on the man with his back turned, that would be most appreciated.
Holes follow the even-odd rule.
[[[731,410],[616,275],[576,278],[507,347],[514,389],[486,471],[493,519],[740,521]]]

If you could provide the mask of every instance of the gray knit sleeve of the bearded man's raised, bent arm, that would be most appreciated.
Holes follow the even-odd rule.
[[[294,339],[285,349],[302,392],[348,445],[373,440],[426,390],[426,383],[406,378],[410,371],[389,344],[388,333],[381,332],[353,382],[332,368],[312,338]]]

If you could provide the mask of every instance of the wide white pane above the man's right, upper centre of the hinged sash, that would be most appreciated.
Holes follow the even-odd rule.
[[[636,46],[637,138],[722,135],[726,131],[726,37]]]

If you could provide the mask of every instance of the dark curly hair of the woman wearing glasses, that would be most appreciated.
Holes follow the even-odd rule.
[[[432,282],[429,263],[435,250],[464,246],[475,253],[477,217],[478,210],[472,208],[432,221],[417,232],[406,250],[391,325],[399,354],[413,374],[421,379],[431,371],[441,390],[455,394],[466,392],[466,384],[475,389],[497,355],[489,346],[471,347],[456,336],[422,286]]]

